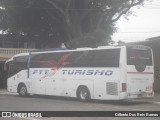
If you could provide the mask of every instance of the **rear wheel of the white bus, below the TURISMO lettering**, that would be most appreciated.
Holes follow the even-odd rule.
[[[82,86],[78,89],[77,97],[80,101],[89,101],[90,93],[87,87]]]

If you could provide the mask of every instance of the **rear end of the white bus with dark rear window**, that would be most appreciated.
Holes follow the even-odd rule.
[[[151,48],[127,46],[127,97],[151,98],[154,96],[154,65]]]

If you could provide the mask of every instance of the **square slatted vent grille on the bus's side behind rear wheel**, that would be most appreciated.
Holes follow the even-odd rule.
[[[118,95],[117,83],[107,82],[106,83],[107,94],[108,95]]]

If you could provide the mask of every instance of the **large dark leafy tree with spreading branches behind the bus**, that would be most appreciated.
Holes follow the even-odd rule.
[[[8,33],[51,37],[68,47],[107,45],[115,23],[144,0],[1,0],[0,28]],[[2,20],[3,19],[3,20]]]

